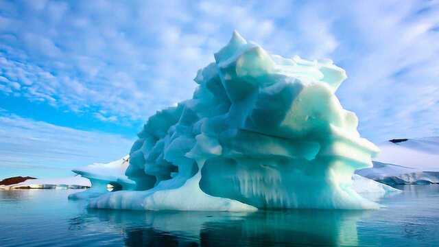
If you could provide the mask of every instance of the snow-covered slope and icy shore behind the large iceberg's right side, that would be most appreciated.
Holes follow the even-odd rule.
[[[388,185],[439,183],[439,137],[392,139],[379,148],[373,167],[357,174]]]

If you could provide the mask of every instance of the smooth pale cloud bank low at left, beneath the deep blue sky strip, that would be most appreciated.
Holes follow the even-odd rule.
[[[108,162],[130,151],[133,140],[75,130],[10,115],[0,108],[0,168],[51,167]]]

